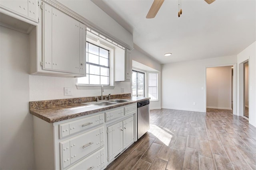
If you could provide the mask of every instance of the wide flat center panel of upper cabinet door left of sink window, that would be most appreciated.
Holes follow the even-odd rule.
[[[55,8],[52,8],[52,69],[80,72],[80,23]]]

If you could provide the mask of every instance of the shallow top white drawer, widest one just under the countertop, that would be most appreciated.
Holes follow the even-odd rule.
[[[73,133],[104,123],[104,113],[59,125],[60,139]]]

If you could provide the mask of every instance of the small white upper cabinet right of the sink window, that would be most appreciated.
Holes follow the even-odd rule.
[[[115,81],[130,81],[132,76],[132,59],[129,49],[115,50]]]

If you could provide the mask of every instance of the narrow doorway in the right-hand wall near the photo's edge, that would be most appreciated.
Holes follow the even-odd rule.
[[[249,119],[249,62],[244,63],[244,117]]]

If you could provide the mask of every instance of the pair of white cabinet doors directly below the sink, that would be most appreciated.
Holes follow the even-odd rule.
[[[133,117],[130,117],[107,128],[108,162],[134,142],[133,127]]]

